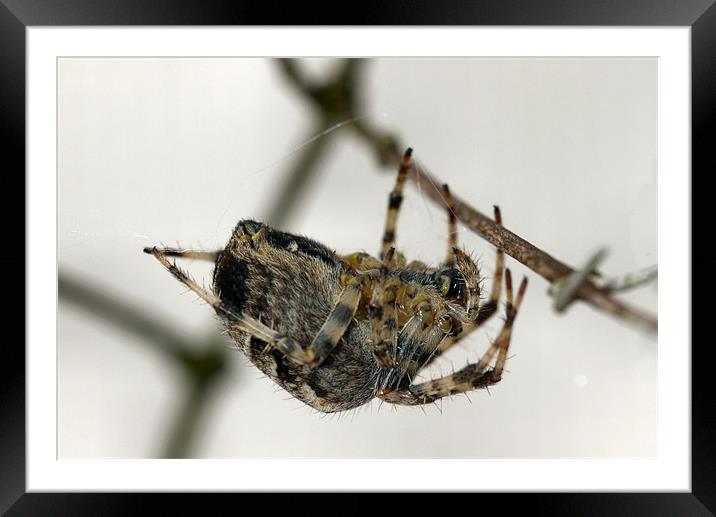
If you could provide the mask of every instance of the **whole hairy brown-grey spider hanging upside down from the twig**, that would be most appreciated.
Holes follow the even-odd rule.
[[[413,383],[420,370],[496,313],[505,259],[498,248],[492,289],[480,305],[478,267],[457,247],[454,200],[447,185],[445,262],[439,267],[407,262],[395,250],[411,155],[408,148],[390,193],[379,258],[363,252],[339,255],[319,242],[252,220],[237,224],[223,250],[144,251],[216,311],[254,365],[318,411],[345,411],[375,397],[420,405],[487,388],[502,378],[527,279],[513,303],[511,274],[504,271],[504,325],[477,363]],[[497,206],[495,221],[502,224]],[[168,257],[213,261],[213,290],[199,286]]]

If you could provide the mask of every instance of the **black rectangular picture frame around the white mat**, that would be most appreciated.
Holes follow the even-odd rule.
[[[3,221],[6,222],[5,246],[0,260],[5,271],[8,289],[6,322],[23,318],[24,304],[18,302],[17,293],[25,292],[25,227],[14,224],[21,207],[13,206],[11,199],[24,200],[17,192],[25,192],[25,29],[28,26],[64,25],[619,25],[619,26],[690,26],[692,50],[692,182],[708,172],[716,171],[712,151],[713,126],[716,107],[716,5],[714,0],[559,0],[550,2],[520,1],[413,1],[345,4],[340,9],[310,6],[305,3],[199,2],[184,0],[0,0],[0,130],[2,131],[3,157],[7,164],[5,181],[15,184],[6,187],[4,202],[0,203]],[[9,159],[9,161],[8,161]],[[698,171],[701,171],[700,173]],[[6,183],[7,184],[7,183]],[[698,193],[698,189],[692,192]],[[703,192],[703,189],[702,189]],[[693,206],[693,205],[692,205]],[[692,235],[704,231],[709,217],[692,209]],[[703,210],[702,210],[703,211]],[[24,212],[23,212],[24,213]],[[14,233],[13,233],[14,232]],[[707,234],[708,235],[708,234]],[[19,243],[22,242],[21,246]],[[693,253],[693,252],[692,252]],[[709,266],[716,258],[709,252],[692,254],[692,274],[699,278],[699,291],[708,293],[714,284]],[[22,278],[17,272],[23,271]],[[691,277],[684,275],[685,282]],[[20,285],[22,283],[22,285]],[[16,285],[17,284],[17,285]],[[9,293],[14,293],[10,295]],[[24,299],[24,297],[23,297]],[[692,303],[692,321],[702,321],[708,304]],[[13,314],[17,313],[17,314]],[[10,327],[6,323],[6,327]],[[24,335],[24,327],[23,327]],[[531,513],[606,515],[711,515],[716,512],[716,476],[714,452],[716,450],[716,402],[713,383],[710,382],[710,339],[695,341],[692,348],[692,492],[642,494],[509,494],[488,496],[464,494],[463,502],[479,505],[480,511],[494,506],[504,511],[505,499],[531,506]],[[5,374],[0,391],[0,510],[8,515],[84,515],[137,513],[145,507],[147,495],[137,494],[77,494],[77,493],[25,493],[25,353],[23,339],[7,339],[3,345]],[[670,343],[685,346],[687,343]],[[246,498],[245,494],[237,497]],[[288,504],[321,513],[335,510],[335,503],[310,503],[310,494],[293,494]],[[219,504],[227,501],[219,498]],[[265,496],[264,496],[265,497]],[[186,498],[149,496],[165,510],[179,503],[184,513],[190,511]],[[365,513],[374,508],[357,495],[357,502],[342,506],[346,513]],[[209,503],[201,498],[201,513],[210,513],[216,500]],[[315,497],[313,499],[315,501]],[[401,513],[419,509],[421,497],[414,496],[409,503],[401,503]],[[247,508],[245,499],[243,508]],[[272,499],[272,505],[276,504]],[[302,502],[304,501],[304,502]],[[177,507],[179,506],[177,505]],[[310,505],[310,506],[309,506]],[[217,506],[218,508],[218,506]],[[272,506],[272,508],[274,508]]]

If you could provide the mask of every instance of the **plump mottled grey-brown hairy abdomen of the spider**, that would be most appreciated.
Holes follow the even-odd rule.
[[[336,306],[343,265],[318,242],[254,224],[258,225],[253,221],[239,223],[217,259],[214,291],[235,312],[291,335],[306,346]],[[251,234],[254,230],[262,233]],[[297,364],[278,350],[269,349],[230,320],[225,320],[225,325],[254,365],[315,409],[342,411],[375,396],[380,367],[364,347],[370,339],[367,321],[353,320],[338,346],[317,368]]]

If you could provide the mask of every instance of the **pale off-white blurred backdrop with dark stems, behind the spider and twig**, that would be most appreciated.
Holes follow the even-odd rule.
[[[530,287],[500,384],[323,415],[142,248],[223,248],[256,218],[376,254],[396,169],[370,134],[573,267],[600,247],[609,277],[650,267],[656,79],[650,58],[60,59],[60,456],[654,456],[655,336],[583,303],[556,314],[509,257]],[[436,263],[445,210],[406,190],[398,248]],[[494,248],[459,228],[489,285]],[[210,285],[210,264],[182,266]],[[655,282],[620,298],[656,313]],[[500,325],[422,378],[476,361]]]

